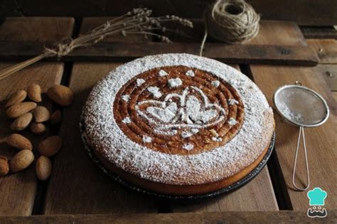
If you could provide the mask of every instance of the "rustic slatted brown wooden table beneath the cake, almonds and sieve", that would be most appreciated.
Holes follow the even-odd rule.
[[[0,53],[0,68],[38,53],[45,42],[83,33],[106,19],[83,18],[80,23],[75,23],[74,18],[6,18],[0,26],[0,45],[6,48],[5,52]],[[64,61],[36,63],[0,80],[0,137],[9,134],[4,103],[12,92],[37,82],[43,91],[55,83],[62,83],[75,93],[73,104],[63,109],[63,122],[59,129],[49,132],[59,133],[64,142],[63,149],[53,157],[53,171],[49,180],[38,181],[33,166],[18,174],[0,178],[0,223],[100,223],[114,220],[121,223],[213,223],[224,220],[288,223],[314,220],[306,216],[309,208],[307,191],[294,191],[291,185],[298,129],[284,122],[276,112],[277,140],[268,165],[239,190],[209,200],[170,201],[129,191],[102,174],[83,149],[78,129],[79,114],[97,80],[118,65],[144,54],[172,51],[196,53],[203,25],[200,20],[195,21],[196,28],[189,31],[193,33],[192,38],[171,36],[175,41],[171,46],[139,36],[114,36],[101,43],[97,52],[93,52],[93,48],[82,49]],[[280,46],[283,53],[278,51]],[[137,49],[132,50],[134,47]],[[103,52],[105,48],[117,50],[107,53]],[[221,50],[214,51],[216,48]],[[235,49],[240,49],[240,53],[230,54]],[[247,49],[252,53],[248,54]],[[264,51],[267,53],[259,54],[261,49],[267,49]],[[324,206],[328,216],[325,219],[316,218],[315,221],[336,223],[336,40],[306,40],[296,23],[262,21],[260,33],[250,43],[225,46],[213,41],[206,46],[205,55],[230,63],[245,73],[260,87],[273,107],[274,90],[281,85],[293,84],[296,80],[316,90],[327,100],[331,115],[320,127],[307,129],[306,142],[311,188],[317,186],[328,192]],[[319,65],[312,67],[318,62]],[[41,139],[43,137],[34,137],[33,142]],[[14,152],[1,144],[0,154],[10,158]],[[302,154],[299,159],[303,161]],[[300,163],[299,167],[299,176],[305,176],[302,169],[304,163]]]

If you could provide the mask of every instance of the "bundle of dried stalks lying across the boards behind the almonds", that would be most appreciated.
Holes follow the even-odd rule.
[[[161,25],[163,22],[176,21],[183,26],[193,28],[193,23],[187,19],[180,18],[178,16],[159,16],[151,17],[152,11],[149,9],[133,9],[127,14],[107,21],[106,23],[94,28],[92,31],[85,33],[75,39],[68,39],[55,43],[51,48],[45,48],[41,55],[31,58],[29,60],[18,63],[9,68],[5,68],[0,71],[0,80],[7,76],[16,73],[18,70],[26,68],[28,65],[36,63],[37,61],[48,57],[62,57],[68,55],[75,48],[82,46],[92,46],[98,41],[102,41],[106,36],[111,36],[116,33],[122,33],[123,36],[127,36],[131,33],[137,33],[144,36],[156,36],[166,43],[171,41],[164,35],[154,33],[156,31],[166,32],[171,31]]]

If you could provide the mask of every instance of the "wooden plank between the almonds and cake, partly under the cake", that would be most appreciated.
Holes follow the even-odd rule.
[[[75,99],[63,111],[63,149],[55,156],[46,193],[46,214],[156,212],[155,199],[112,181],[91,161],[82,146],[79,117],[92,86],[117,63],[76,63],[70,79]],[[70,131],[71,129],[71,131]]]

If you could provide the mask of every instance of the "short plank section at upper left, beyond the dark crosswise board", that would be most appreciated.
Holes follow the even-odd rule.
[[[73,25],[74,18],[8,17],[0,26],[0,41],[61,41],[71,37]]]

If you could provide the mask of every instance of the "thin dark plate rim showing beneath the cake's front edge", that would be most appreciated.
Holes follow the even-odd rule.
[[[123,186],[126,186],[127,188],[130,188],[134,191],[138,191],[140,193],[145,193],[147,195],[156,196],[156,197],[160,197],[160,198],[169,198],[169,199],[177,199],[177,200],[179,200],[179,199],[210,198],[210,197],[218,196],[220,194],[225,194],[225,193],[229,193],[231,191],[237,190],[238,188],[244,186],[246,183],[250,182],[253,178],[255,178],[255,176],[257,176],[257,174],[260,173],[260,171],[262,171],[264,166],[267,164],[267,161],[268,161],[270,155],[272,154],[272,150],[274,149],[274,144],[275,144],[275,132],[274,132],[274,134],[272,135],[272,139],[270,141],[270,144],[269,144],[269,148],[267,149],[267,153],[264,155],[260,164],[258,164],[255,167],[255,169],[253,169],[250,172],[250,174],[247,174],[247,176],[242,178],[240,181],[237,181],[236,183],[232,183],[230,186],[226,186],[225,188],[221,188],[218,191],[213,191],[213,192],[210,192],[210,193],[196,194],[196,195],[191,195],[191,196],[176,196],[176,195],[171,195],[171,194],[157,193],[157,192],[154,192],[154,191],[149,191],[149,190],[146,190],[146,189],[143,189],[143,188],[139,188],[139,186],[134,186],[134,184],[129,183],[127,181],[124,181],[122,178],[120,178],[116,174],[113,174],[111,171],[108,171],[107,169],[105,169],[105,166],[103,166],[102,163],[97,159],[97,156],[95,156],[91,146],[89,144],[87,144],[87,139],[85,139],[84,133],[85,133],[85,125],[84,125],[84,122],[83,122],[83,119],[82,119],[82,116],[81,116],[80,117],[80,135],[81,135],[82,142],[83,142],[83,145],[85,147],[85,150],[89,154],[92,161],[94,161],[94,163],[99,167],[99,169],[102,170],[105,174],[107,174],[107,176],[109,176],[110,178],[114,179],[114,181],[117,181],[118,183],[122,184]]]

